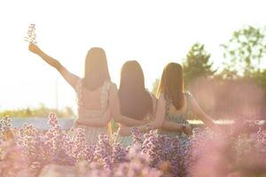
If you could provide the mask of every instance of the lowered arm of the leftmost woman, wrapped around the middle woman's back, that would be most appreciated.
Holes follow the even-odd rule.
[[[114,121],[121,123],[126,126],[140,126],[145,124],[145,121],[137,120],[128,118],[126,116],[121,115],[121,109],[120,109],[120,101],[117,95],[117,88],[115,85],[111,86],[110,94],[109,94],[109,106],[111,109],[111,115],[114,119]]]

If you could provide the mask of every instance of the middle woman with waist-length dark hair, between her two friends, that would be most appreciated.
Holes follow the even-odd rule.
[[[157,99],[145,89],[144,73],[137,61],[128,61],[122,66],[118,96],[121,103],[122,115],[131,119],[148,120],[150,122],[148,125],[155,128],[161,127],[168,131],[181,130],[180,125],[172,123],[170,120],[165,120],[162,125],[156,120],[158,119],[155,118]],[[145,124],[140,129],[141,131],[146,131]],[[130,145],[133,141],[131,130],[132,126],[121,124],[116,142],[121,142],[123,146]],[[186,134],[190,134],[190,126],[186,125],[184,131]]]

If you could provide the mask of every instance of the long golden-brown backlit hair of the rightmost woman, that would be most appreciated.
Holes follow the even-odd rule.
[[[163,69],[157,97],[163,93],[166,99],[170,99],[176,109],[184,106],[184,79],[182,65],[169,63]]]

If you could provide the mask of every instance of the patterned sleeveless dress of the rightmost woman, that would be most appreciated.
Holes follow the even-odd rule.
[[[178,124],[184,124],[184,125],[188,125],[189,122],[186,120],[188,119],[191,115],[192,115],[192,94],[190,92],[185,92],[184,96],[186,96],[187,98],[187,109],[186,112],[184,113],[170,113],[170,108],[171,108],[171,104],[172,104],[172,100],[166,98],[166,115],[165,115],[165,119],[178,123]],[[185,135],[182,132],[176,132],[176,131],[168,131],[168,130],[162,130],[160,129],[159,131],[160,135],[168,135],[170,137],[178,137],[178,138],[186,138],[187,135]]]

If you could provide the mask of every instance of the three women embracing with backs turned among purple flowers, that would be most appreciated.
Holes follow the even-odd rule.
[[[145,132],[147,126],[160,129],[169,136],[192,135],[187,119],[195,114],[208,127],[215,127],[189,92],[184,92],[183,69],[176,63],[165,66],[156,97],[145,89],[145,77],[137,61],[126,62],[121,69],[120,88],[111,81],[106,53],[101,48],[88,51],[84,77],[70,73],[35,44],[28,49],[55,67],[74,88],[77,96],[78,119],[75,126],[85,130],[86,141],[98,142],[98,135],[110,135],[110,121],[120,124],[116,141],[132,143],[131,127]]]

